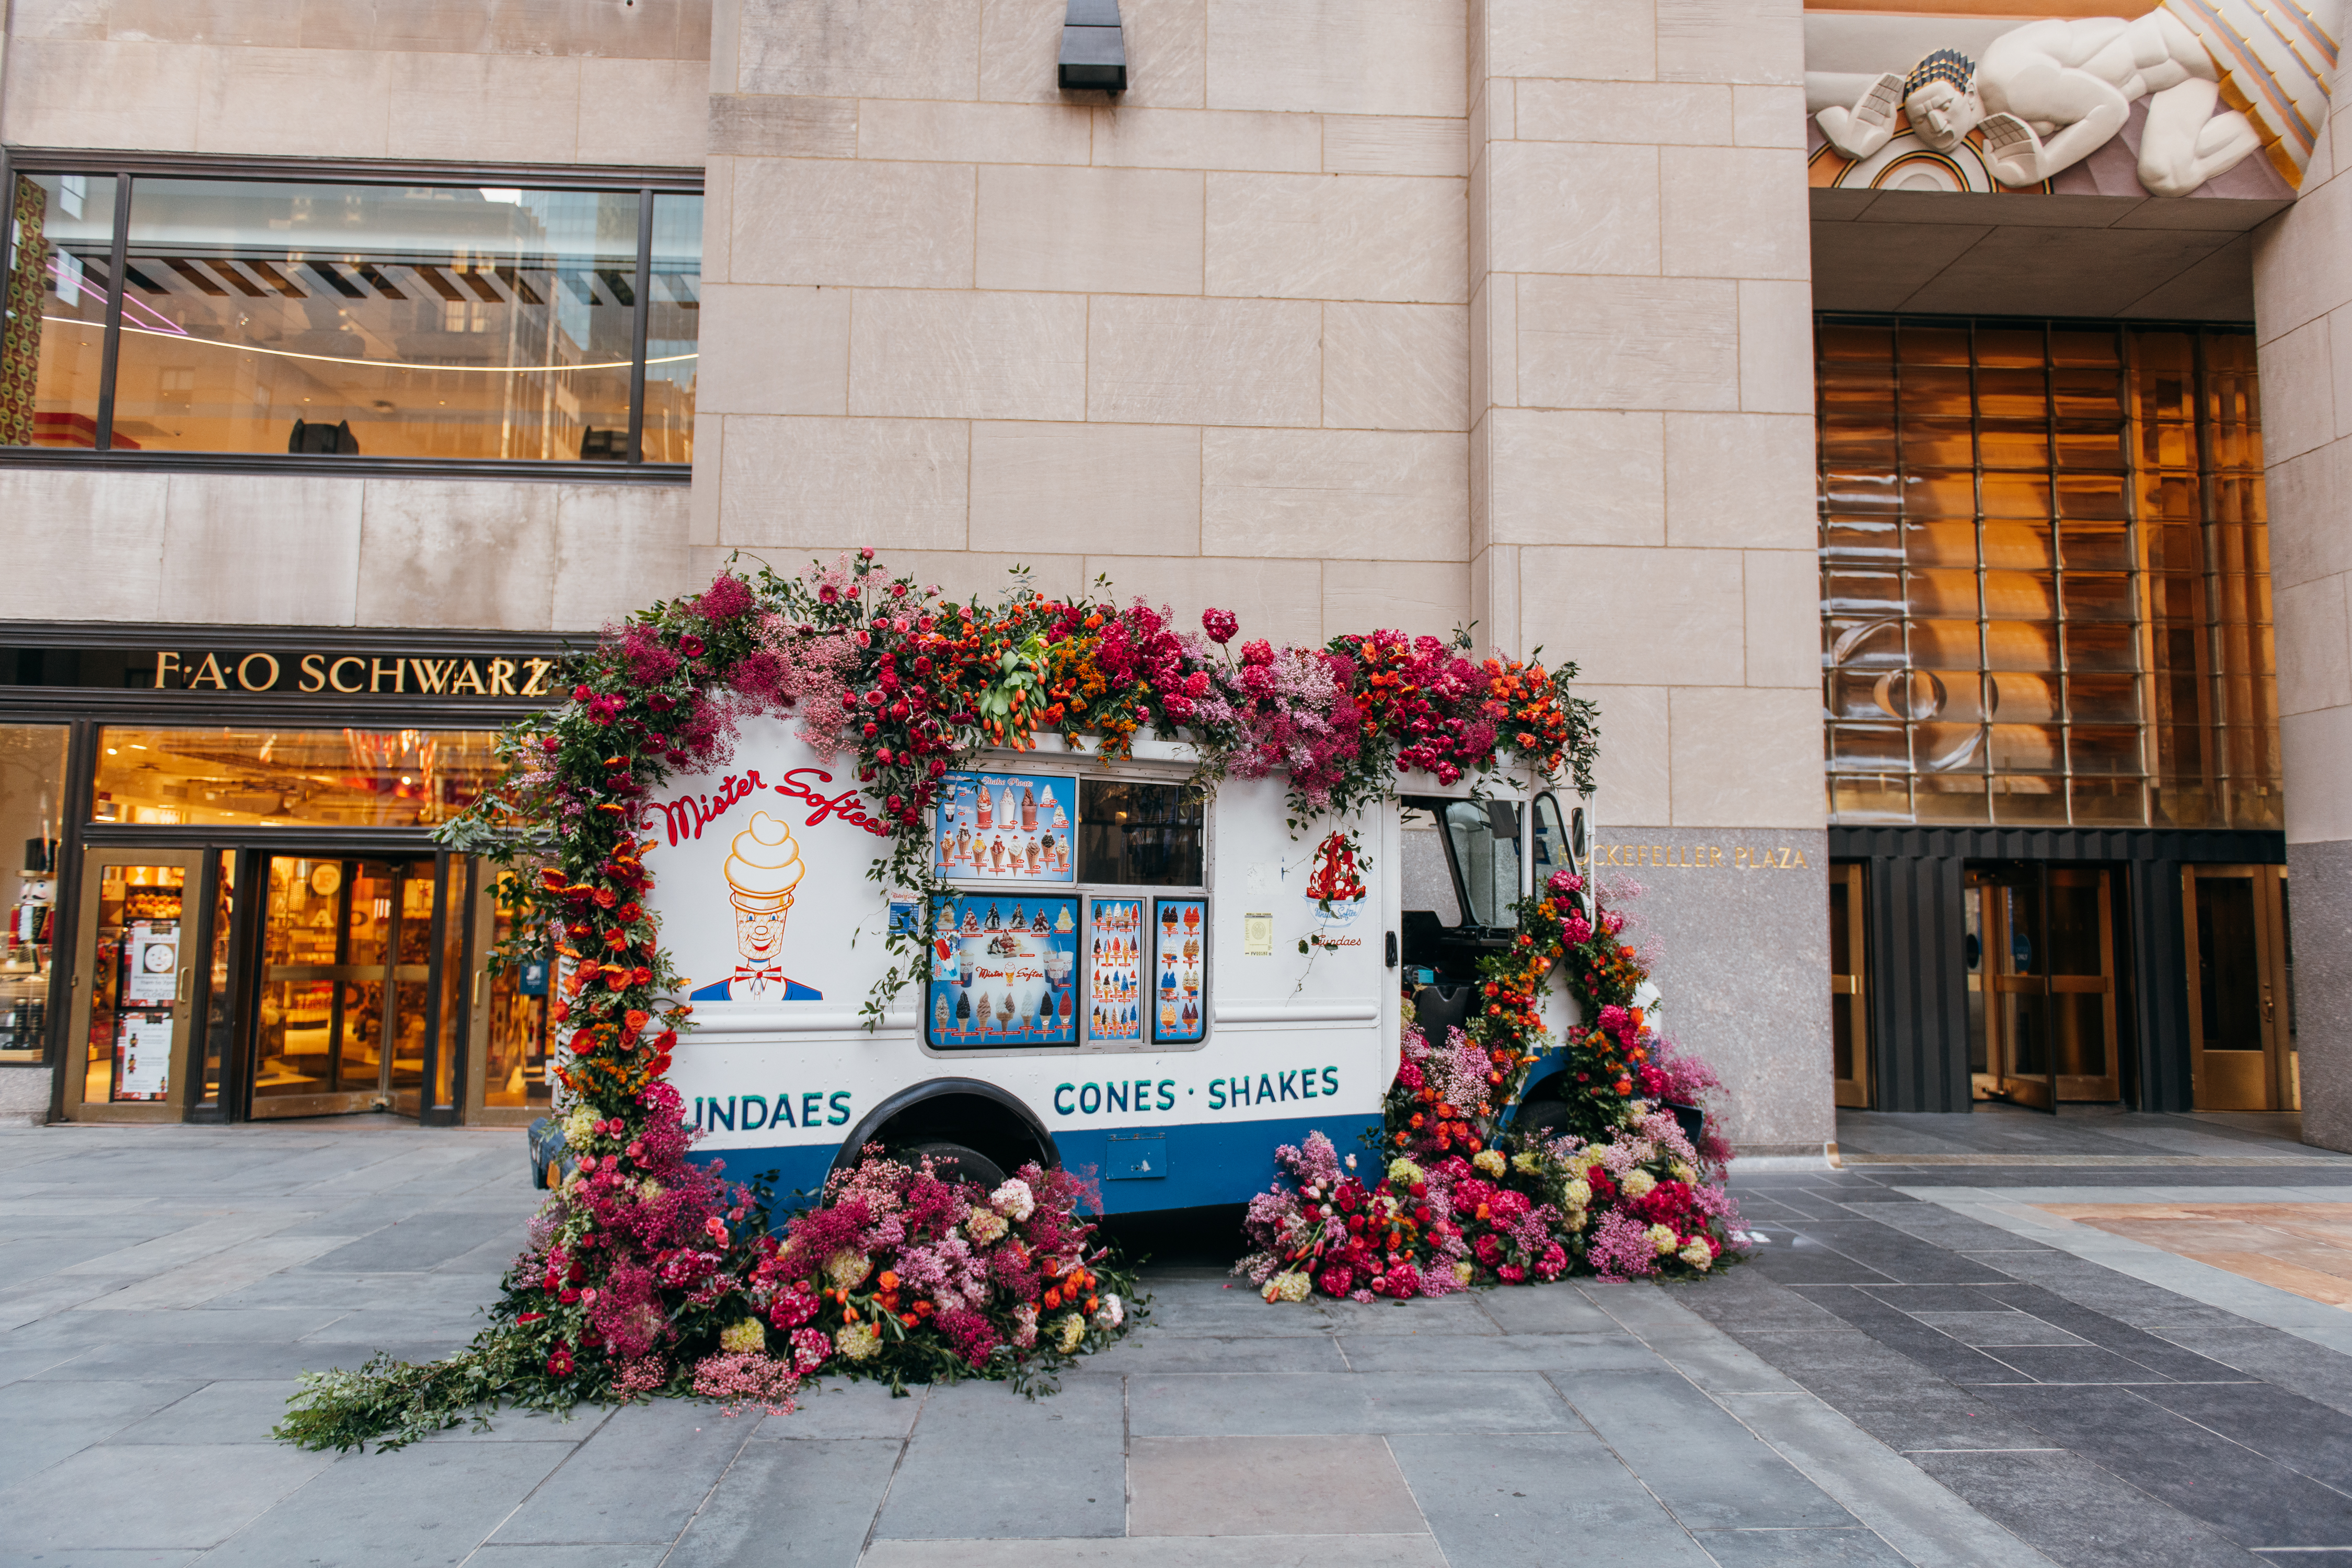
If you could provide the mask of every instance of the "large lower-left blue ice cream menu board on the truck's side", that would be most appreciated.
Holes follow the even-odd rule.
[[[1077,1044],[1077,898],[969,893],[931,933],[936,1051]]]

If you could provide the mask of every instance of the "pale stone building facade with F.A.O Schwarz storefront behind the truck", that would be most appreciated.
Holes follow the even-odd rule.
[[[430,823],[567,637],[873,545],[1576,658],[1743,1147],[2352,1143],[2331,19],[2199,75],[2046,7],[2187,63],[2025,179],[1893,115],[2009,5],[1117,9],[1108,94],[1065,0],[16,0],[7,1103],[529,1114]]]

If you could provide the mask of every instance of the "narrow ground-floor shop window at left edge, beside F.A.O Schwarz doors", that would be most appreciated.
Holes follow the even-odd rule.
[[[0,724],[0,1060],[38,1063],[49,1039],[56,952],[56,835],[66,802],[66,726]]]

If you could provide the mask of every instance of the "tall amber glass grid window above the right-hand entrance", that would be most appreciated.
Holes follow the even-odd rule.
[[[2279,827],[2253,339],[1823,317],[1835,823]]]

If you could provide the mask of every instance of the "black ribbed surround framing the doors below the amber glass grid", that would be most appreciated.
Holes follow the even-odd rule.
[[[2119,872],[2117,1058],[2136,1110],[2190,1110],[2183,865],[2286,865],[2284,832],[2161,827],[1830,827],[1830,858],[1865,870],[1875,1110],[1969,1110],[1971,863]]]

